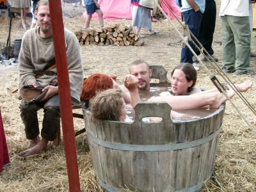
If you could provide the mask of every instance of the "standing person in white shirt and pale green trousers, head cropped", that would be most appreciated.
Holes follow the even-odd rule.
[[[251,32],[248,0],[221,0],[220,6],[223,70],[226,74],[252,76],[250,68]]]

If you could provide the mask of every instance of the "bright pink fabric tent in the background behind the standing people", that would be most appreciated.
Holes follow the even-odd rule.
[[[165,0],[165,2],[173,13],[175,13],[177,17],[181,18],[180,8],[175,4],[174,0]],[[168,17],[172,20],[175,19],[161,0],[159,3],[164,12],[168,14]],[[103,12],[104,20],[132,19],[131,0],[99,0],[99,4],[100,10]],[[83,13],[83,17],[86,17],[86,12]],[[93,14],[93,19],[98,19],[97,13]]]

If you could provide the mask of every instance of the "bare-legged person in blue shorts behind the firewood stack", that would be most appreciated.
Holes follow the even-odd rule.
[[[85,22],[85,28],[89,28],[90,26],[90,22],[92,19],[92,14],[93,13],[97,13],[99,15],[99,23],[101,27],[104,27],[103,24],[103,13],[100,10],[100,4],[98,3],[97,0],[84,0],[84,4],[86,7],[86,13],[87,13],[87,17],[86,17],[86,22]]]

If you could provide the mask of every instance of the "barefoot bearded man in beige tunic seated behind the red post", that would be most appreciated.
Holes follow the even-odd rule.
[[[19,93],[23,86],[42,87],[42,91],[46,93],[38,102],[26,102],[24,98],[21,101],[20,116],[25,125],[26,138],[30,141],[28,149],[19,154],[22,157],[35,155],[44,150],[47,143],[56,138],[57,131],[60,129],[56,68],[51,67],[50,70],[48,67],[49,63],[54,63],[55,55],[47,0],[38,2],[35,16],[38,19],[38,27],[26,31],[19,53]],[[65,29],[65,43],[71,100],[72,104],[79,104],[83,84],[81,52],[76,36],[67,29]],[[40,139],[37,111],[42,108],[44,120],[41,130],[42,139]]]

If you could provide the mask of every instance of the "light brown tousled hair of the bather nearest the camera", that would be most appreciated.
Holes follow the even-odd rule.
[[[99,92],[90,100],[89,109],[92,118],[100,120],[119,121],[122,116],[124,99],[121,90],[109,89]]]

